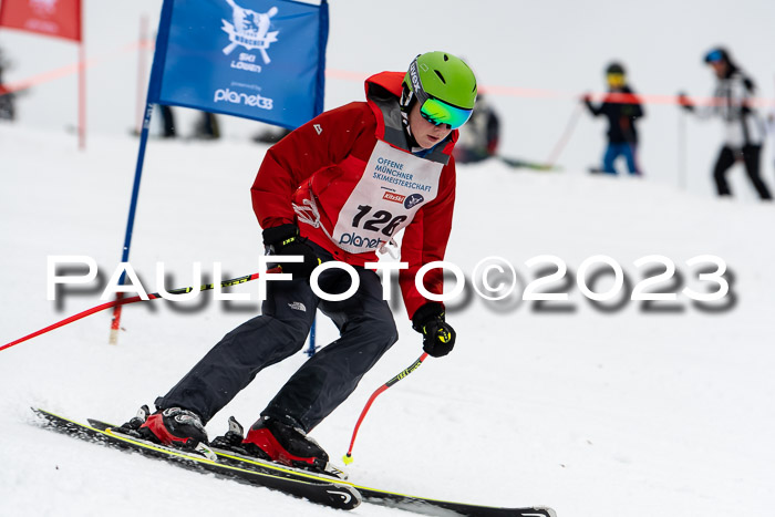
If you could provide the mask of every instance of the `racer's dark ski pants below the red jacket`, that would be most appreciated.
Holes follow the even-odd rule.
[[[330,260],[314,246],[322,260]],[[262,369],[300,351],[316,309],[337,324],[340,338],[310,358],[286,383],[262,416],[311,431],[355,390],[361,378],[397,340],[393,314],[382,299],[382,283],[373,270],[354,268],[360,288],[347,300],[318,298],[309,280],[269,281],[261,316],[224,337],[156,407],[184,407],[208,422]],[[318,285],[328,293],[350,288],[347,271],[323,271]]]

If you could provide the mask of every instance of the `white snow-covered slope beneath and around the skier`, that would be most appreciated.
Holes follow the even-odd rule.
[[[194,261],[206,273],[220,261],[228,278],[258,270],[248,188],[265,152],[237,141],[149,143],[130,257],[148,291],[157,290],[157,261],[173,275],[167,287],[190,285]],[[94,285],[48,301],[46,257],[90,256],[101,280],[110,278],[135,153],[130,137],[93,136],[80,153],[72,137],[0,125],[0,344],[101,303]],[[471,279],[480,259],[502,257],[518,273],[517,289],[499,302],[471,289],[450,302],[456,350],[378,399],[355,444],[359,483],[471,503],[544,504],[560,516],[772,513],[773,206],[690,197],[648,177],[483,163],[458,168],[456,207],[447,259]],[[549,286],[568,292],[567,302],[520,300],[548,267],[525,262],[541,255],[567,263],[566,280]],[[627,292],[655,266],[637,268],[636,260],[666,257],[680,279],[654,289],[678,299],[644,306],[618,296],[592,304],[576,278],[598,255],[621,265]],[[731,271],[721,303],[681,293],[715,290],[686,263],[703,255],[721,257]],[[586,278],[597,292],[612,285],[610,275]],[[257,296],[251,283],[235,292]],[[116,347],[107,344],[110,314],[101,313],[0,352],[0,515],[334,515],[30,422],[30,405],[124,421],[256,310],[256,302],[227,307],[207,293],[185,306],[137,303],[124,311]],[[400,341],[314,430],[334,457],[347,451],[371,392],[421,353],[403,308],[395,312]],[[324,343],[335,329],[319,319],[318,334]],[[210,422],[210,434],[225,431],[229,415],[251,423],[303,360],[262,372]],[[353,511],[396,514],[369,505]]]

